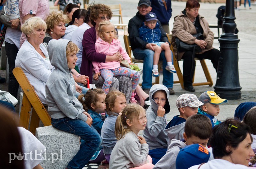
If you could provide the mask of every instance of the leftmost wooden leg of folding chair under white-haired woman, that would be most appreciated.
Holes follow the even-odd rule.
[[[27,130],[28,130],[29,117],[30,117],[30,113],[29,113],[30,110],[31,110],[31,104],[28,100],[28,97],[26,95],[23,95],[21,110],[20,110],[19,126],[24,127]]]

